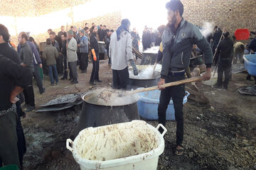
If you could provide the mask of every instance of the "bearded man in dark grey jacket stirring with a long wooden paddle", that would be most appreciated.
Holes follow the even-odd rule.
[[[182,155],[184,149],[183,142],[183,97],[185,95],[185,85],[171,86],[163,88],[161,85],[172,81],[185,79],[185,69],[188,67],[191,57],[193,44],[196,44],[202,51],[206,62],[206,74],[203,80],[210,79],[211,64],[213,63],[213,52],[206,38],[200,30],[192,23],[188,23],[182,18],[183,4],[180,0],[171,0],[166,4],[168,20],[162,35],[163,64],[161,69],[161,79],[159,89],[161,95],[159,99],[159,123],[166,123],[166,109],[172,98],[174,101],[176,119],[176,148],[175,154]],[[159,129],[160,132],[163,129]]]

